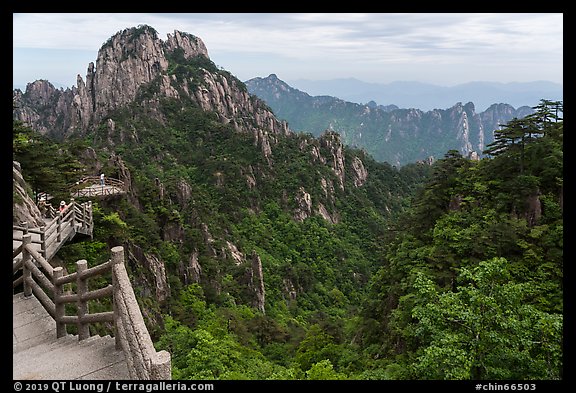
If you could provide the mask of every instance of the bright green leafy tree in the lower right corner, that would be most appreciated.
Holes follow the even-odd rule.
[[[418,275],[416,378],[562,378],[562,315],[527,303],[532,284],[513,281],[505,258],[463,268],[459,281],[440,293]]]

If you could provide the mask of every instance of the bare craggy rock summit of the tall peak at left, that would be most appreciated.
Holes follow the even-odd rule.
[[[187,65],[200,65],[190,72]],[[14,118],[43,134],[63,139],[97,127],[114,110],[139,98],[140,105],[159,121],[158,100],[165,97],[191,100],[214,111],[223,122],[251,132],[265,154],[270,154],[270,134],[289,132],[260,100],[229,73],[218,72],[202,40],[174,31],[167,40],[149,26],[125,29],[112,36],[88,65],[86,79],[77,86],[56,89],[49,81],[29,83],[26,91],[14,90]],[[249,120],[248,120],[249,119]]]

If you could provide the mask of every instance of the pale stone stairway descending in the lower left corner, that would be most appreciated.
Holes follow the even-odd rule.
[[[130,379],[122,351],[110,336],[56,338],[56,322],[34,296],[13,295],[14,380]]]

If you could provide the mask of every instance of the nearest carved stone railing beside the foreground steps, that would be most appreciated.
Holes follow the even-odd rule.
[[[13,287],[23,285],[24,295],[34,295],[56,321],[56,335],[67,334],[66,325],[77,326],[78,340],[90,337],[89,325],[111,323],[115,328],[116,349],[122,350],[132,379],[172,379],[171,356],[166,351],[156,352],[144,323],[124,265],[124,248],[112,248],[112,258],[88,268],[86,260],[76,262],[76,272],[64,275],[62,267],[53,268],[31,246],[31,234],[22,237],[22,259],[13,264],[13,274],[22,276],[13,280]],[[88,279],[111,272],[112,284],[90,290]],[[76,293],[64,291],[66,285],[76,284]],[[112,311],[90,313],[89,300],[112,297]],[[76,304],[76,315],[66,315],[66,304]]]

